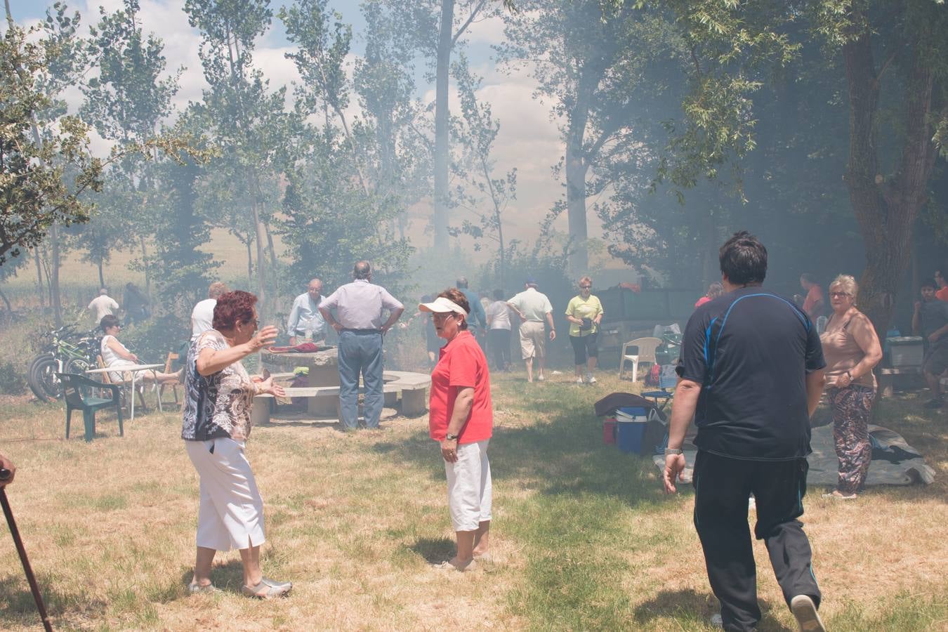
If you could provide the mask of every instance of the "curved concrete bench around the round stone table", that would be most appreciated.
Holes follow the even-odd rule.
[[[284,379],[292,375],[292,373],[280,374]],[[398,394],[401,393],[401,413],[406,417],[416,417],[428,410],[430,376],[410,371],[386,370],[382,374],[382,379],[384,380],[382,392],[385,397],[385,406],[396,406]],[[283,389],[287,397],[305,397],[307,411],[317,415],[335,414],[338,418],[338,387],[284,387]],[[365,392],[365,388],[359,388],[359,392]],[[254,397],[253,408],[250,412],[253,424],[268,423],[274,403],[273,395],[264,394]]]

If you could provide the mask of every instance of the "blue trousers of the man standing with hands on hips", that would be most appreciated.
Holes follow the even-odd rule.
[[[382,415],[382,333],[371,330],[339,334],[339,412],[342,427],[358,421],[358,376],[365,383],[365,427],[377,428]]]

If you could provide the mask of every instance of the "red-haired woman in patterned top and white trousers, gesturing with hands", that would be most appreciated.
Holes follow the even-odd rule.
[[[256,302],[257,297],[241,291],[218,298],[214,328],[199,335],[188,352],[181,438],[201,479],[192,593],[216,590],[210,583],[214,553],[231,549],[240,550],[246,596],[282,597],[293,587],[261,572],[264,501],[244,455],[254,395],[284,394],[273,378],[251,378],[241,364],[277,337],[273,326],[257,331]]]

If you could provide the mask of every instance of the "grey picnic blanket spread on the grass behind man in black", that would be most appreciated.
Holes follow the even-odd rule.
[[[912,485],[929,484],[935,480],[935,470],[925,463],[921,452],[902,439],[902,435],[882,425],[869,424],[869,441],[872,442],[872,462],[866,476],[866,485]],[[835,485],[839,477],[839,460],[832,441],[832,425],[812,429],[810,446],[812,454],[807,483],[811,485]],[[697,448],[684,442],[684,472],[682,481],[691,482],[692,466]],[[655,455],[655,465],[665,469],[665,456]]]

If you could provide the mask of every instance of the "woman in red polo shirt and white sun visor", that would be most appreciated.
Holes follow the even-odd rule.
[[[447,474],[447,507],[458,553],[441,569],[473,570],[487,554],[490,531],[490,463],[487,443],[494,428],[487,359],[467,331],[470,305],[450,288],[418,309],[430,312],[438,336],[447,340],[431,371],[428,430],[441,444]]]

